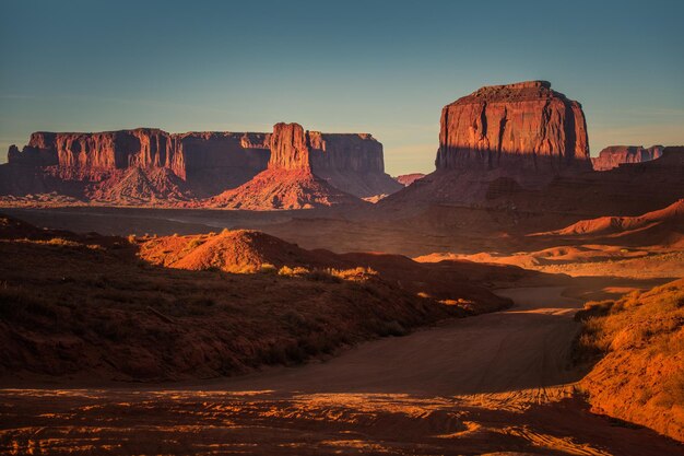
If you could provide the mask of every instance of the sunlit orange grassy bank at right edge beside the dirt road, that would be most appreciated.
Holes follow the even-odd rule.
[[[587,303],[577,319],[575,360],[598,361],[581,383],[591,404],[684,440],[684,280]]]

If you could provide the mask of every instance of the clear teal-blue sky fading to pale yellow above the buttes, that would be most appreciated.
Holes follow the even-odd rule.
[[[684,2],[0,1],[0,161],[35,130],[372,132],[429,172],[445,104],[531,79],[592,154],[684,143]]]

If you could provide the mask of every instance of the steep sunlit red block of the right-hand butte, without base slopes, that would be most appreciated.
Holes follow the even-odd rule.
[[[484,86],[441,110],[437,169],[590,169],[581,105],[546,81]]]

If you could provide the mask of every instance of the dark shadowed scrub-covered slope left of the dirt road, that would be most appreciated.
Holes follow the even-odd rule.
[[[170,269],[138,256],[149,243],[177,243],[181,250],[203,238],[131,244],[46,233],[45,241],[0,242],[0,375],[90,370],[139,381],[231,375],[325,356],[459,315],[390,287],[368,268],[264,262],[262,273],[238,274],[211,266]],[[98,248],[86,248],[87,243]],[[120,245],[115,249],[115,244]],[[63,246],[79,248],[57,248]],[[169,255],[165,248],[160,245],[161,256]]]

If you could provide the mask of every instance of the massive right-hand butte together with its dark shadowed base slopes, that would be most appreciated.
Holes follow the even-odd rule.
[[[520,217],[540,210],[637,215],[684,191],[683,148],[594,172],[581,106],[543,81],[483,87],[445,106],[439,142],[437,169],[379,201],[380,209],[449,204]]]

